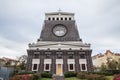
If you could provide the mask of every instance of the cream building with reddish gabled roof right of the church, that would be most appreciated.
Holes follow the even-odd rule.
[[[92,57],[93,66],[100,68],[102,64],[106,65],[107,59],[118,61],[120,59],[120,54],[113,53],[110,50],[107,50],[104,54],[102,54],[102,53],[97,54]]]

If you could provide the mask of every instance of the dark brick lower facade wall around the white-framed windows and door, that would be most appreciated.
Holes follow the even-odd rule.
[[[44,71],[44,59],[46,59],[45,57],[45,52],[47,51],[43,51],[43,50],[28,50],[28,61],[27,61],[27,71],[31,71],[32,70],[32,59],[34,58],[34,52],[39,52],[39,59],[40,59],[40,64],[39,64],[39,69],[38,72],[43,72]],[[52,74],[56,74],[56,59],[57,59],[57,55],[55,50],[49,50],[51,52],[51,59],[52,59],[52,64],[51,64],[51,70],[50,73]],[[67,64],[67,59],[68,59],[68,53],[67,52],[71,52],[72,50],[66,50],[66,51],[62,51],[59,50],[60,52],[63,52],[62,54],[62,59],[63,59],[63,73],[68,71],[68,64]],[[79,64],[79,52],[85,52],[85,56],[87,59],[87,69],[88,71],[93,71],[93,64],[92,64],[92,59],[91,59],[91,50],[76,50],[76,51],[72,51],[74,52],[74,59],[75,59],[75,71],[76,72],[80,72],[80,64]]]

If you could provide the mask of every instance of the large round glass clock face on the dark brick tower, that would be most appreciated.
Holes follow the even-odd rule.
[[[57,25],[53,28],[53,33],[56,36],[64,36],[66,34],[67,30],[63,25]]]

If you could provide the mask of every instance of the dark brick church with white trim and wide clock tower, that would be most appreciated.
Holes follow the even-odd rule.
[[[90,44],[79,37],[74,13],[46,13],[40,38],[27,49],[27,71],[63,75],[93,71]]]

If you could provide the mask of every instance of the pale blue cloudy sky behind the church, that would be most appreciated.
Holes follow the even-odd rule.
[[[120,0],[0,0],[0,57],[27,55],[40,37],[45,13],[75,13],[79,35],[92,55],[120,53]]]

